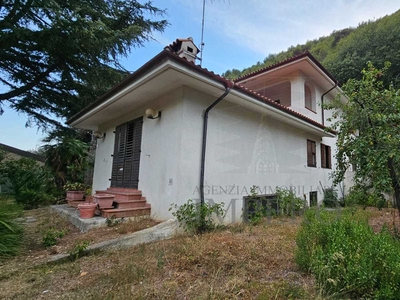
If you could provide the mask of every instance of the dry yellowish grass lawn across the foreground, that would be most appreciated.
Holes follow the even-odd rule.
[[[300,219],[106,251],[0,276],[2,299],[316,299],[294,262]]]

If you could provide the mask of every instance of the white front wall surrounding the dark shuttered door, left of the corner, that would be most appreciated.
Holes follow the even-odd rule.
[[[177,198],[182,92],[183,88],[179,88],[99,127],[100,131],[106,132],[106,138],[98,141],[93,177],[94,191],[110,187],[115,127],[143,116],[139,190],[142,190],[143,196],[152,205],[153,217],[170,217],[168,209]],[[147,108],[161,110],[162,117],[147,119],[144,116]]]

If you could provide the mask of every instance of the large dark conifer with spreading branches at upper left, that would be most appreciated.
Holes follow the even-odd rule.
[[[8,104],[38,125],[60,125],[127,75],[132,47],[168,25],[133,0],[1,0],[0,113]]]

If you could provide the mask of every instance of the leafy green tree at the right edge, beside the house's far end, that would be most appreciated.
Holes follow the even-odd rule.
[[[400,90],[382,82],[389,67],[388,62],[383,69],[368,63],[362,79],[350,79],[343,86],[347,101],[339,97],[329,105],[337,109],[334,179],[343,180],[352,165],[358,186],[376,195],[394,195],[400,212]]]

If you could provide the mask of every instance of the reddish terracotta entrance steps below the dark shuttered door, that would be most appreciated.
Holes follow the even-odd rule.
[[[113,208],[101,210],[104,218],[126,218],[137,216],[150,216],[151,205],[142,196],[142,191],[126,188],[107,188],[107,190],[96,191],[96,195],[114,195]]]

